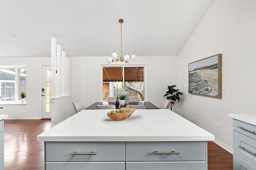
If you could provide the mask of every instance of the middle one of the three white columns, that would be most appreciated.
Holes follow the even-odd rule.
[[[61,46],[57,45],[57,96],[62,96]]]

